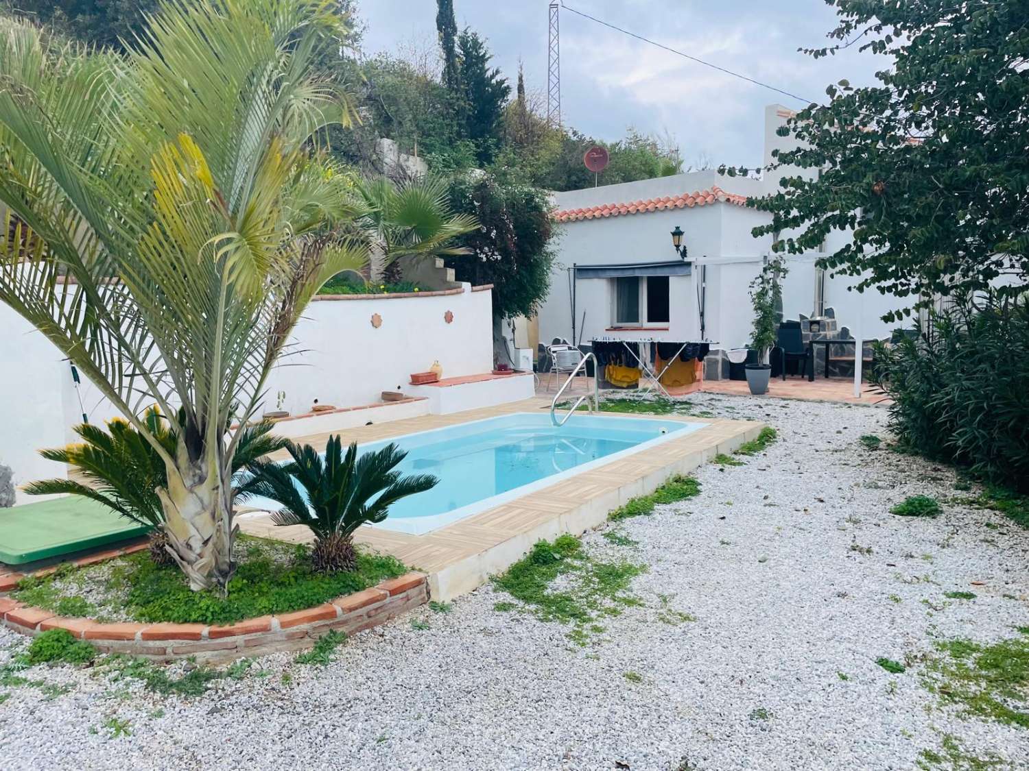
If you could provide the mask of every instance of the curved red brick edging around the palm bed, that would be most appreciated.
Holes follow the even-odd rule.
[[[369,589],[338,597],[315,608],[246,619],[227,626],[207,624],[101,624],[93,619],[62,618],[49,611],[0,597],[4,626],[34,635],[66,629],[92,642],[101,653],[168,660],[185,656],[254,656],[303,647],[330,629],[353,634],[388,621],[429,599],[427,577],[409,573]],[[284,645],[285,644],[285,645]]]

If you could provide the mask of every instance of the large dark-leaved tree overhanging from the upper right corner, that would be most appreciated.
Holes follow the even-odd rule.
[[[865,40],[861,50],[893,66],[874,86],[828,86],[828,104],[781,130],[800,147],[778,153],[770,170],[785,175],[783,189],[751,198],[773,215],[755,235],[792,231],[776,248],[801,253],[853,229],[820,264],[861,277],[859,291],[915,296],[916,306],[997,280],[1010,284],[1002,294],[1025,291],[1029,2],[836,4],[841,21],[829,37]]]

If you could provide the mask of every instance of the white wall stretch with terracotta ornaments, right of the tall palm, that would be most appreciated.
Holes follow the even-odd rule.
[[[453,322],[443,318],[450,310]],[[372,315],[382,325],[371,326]],[[383,391],[407,391],[412,372],[438,360],[443,377],[493,369],[493,303],[486,291],[374,299],[316,299],[296,325],[289,351],[268,380],[265,409],[276,394],[294,414],[314,400],[347,407],[379,401]]]

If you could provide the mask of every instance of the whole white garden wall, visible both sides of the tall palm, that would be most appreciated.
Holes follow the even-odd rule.
[[[307,412],[315,399],[336,407],[375,403],[383,391],[406,391],[410,374],[427,370],[434,360],[445,377],[489,372],[492,320],[489,288],[473,290],[468,284],[415,296],[316,299],[290,340],[293,353],[272,372],[265,409],[275,407],[279,391],[286,392],[284,407],[293,414]],[[83,411],[94,424],[117,412],[84,379],[76,394],[71,367],[57,347],[2,302],[0,331],[0,463],[11,467],[15,484],[64,476],[62,465],[44,461],[37,450],[73,440],[72,427],[81,423]],[[426,409],[425,402],[416,402],[370,412],[375,419],[390,419]],[[343,413],[335,423],[347,417]],[[26,499],[19,493],[17,503]]]

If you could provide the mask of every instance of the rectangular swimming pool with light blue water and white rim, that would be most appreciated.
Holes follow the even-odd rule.
[[[386,521],[372,526],[423,535],[704,425],[574,414],[557,428],[548,412],[516,412],[364,444],[361,451],[395,442],[407,451],[401,472],[439,478],[432,489],[391,506]]]

